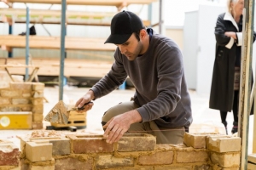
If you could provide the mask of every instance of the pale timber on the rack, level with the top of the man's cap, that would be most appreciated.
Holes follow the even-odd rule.
[[[113,15],[107,12],[67,11],[68,25],[110,26]],[[26,8],[0,8],[0,20],[9,23],[26,23]],[[30,23],[61,24],[60,10],[30,10]],[[143,20],[144,26],[150,26],[149,20]]]

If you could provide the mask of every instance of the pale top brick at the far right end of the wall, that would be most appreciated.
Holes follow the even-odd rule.
[[[241,138],[239,137],[208,137],[208,150],[220,153],[241,150]]]

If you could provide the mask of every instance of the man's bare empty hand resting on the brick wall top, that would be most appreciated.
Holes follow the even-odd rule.
[[[121,115],[114,116],[103,128],[106,128],[104,137],[107,143],[119,141],[119,139],[128,131],[132,123],[142,122],[143,118],[137,110],[128,111]]]

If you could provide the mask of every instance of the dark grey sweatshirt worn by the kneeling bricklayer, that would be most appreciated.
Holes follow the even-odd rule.
[[[94,85],[95,99],[109,94],[127,76],[136,88],[134,101],[143,122],[154,121],[159,127],[189,127],[191,104],[183,70],[183,56],[177,44],[154,34],[148,50],[133,61],[114,53],[114,63],[105,77]]]

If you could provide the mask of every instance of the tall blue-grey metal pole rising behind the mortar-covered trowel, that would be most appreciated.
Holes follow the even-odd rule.
[[[60,76],[59,76],[59,100],[63,99],[65,35],[66,35],[66,0],[62,0],[61,1],[61,59],[60,59]]]

